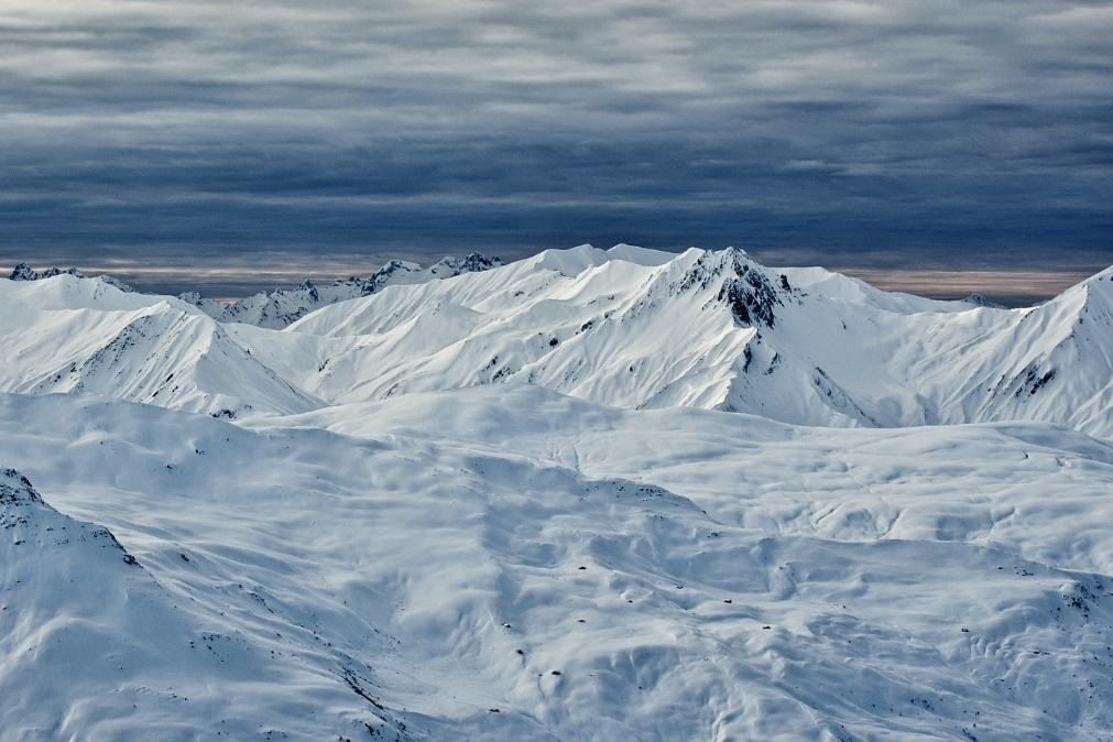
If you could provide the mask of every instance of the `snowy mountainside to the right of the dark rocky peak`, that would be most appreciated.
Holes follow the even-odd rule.
[[[1013,310],[864,285],[856,299],[845,277],[785,273],[807,296],[751,344],[726,408],[888,427],[1041,419],[1113,435],[1113,270]]]

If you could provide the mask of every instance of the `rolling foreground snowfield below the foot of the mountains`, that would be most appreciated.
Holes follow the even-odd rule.
[[[486,387],[253,432],[3,395],[0,461],[142,568],[98,547],[4,593],[17,651],[0,680],[49,699],[29,719],[73,720],[75,738],[209,739],[224,722],[233,739],[1100,740],[1113,725],[1113,547],[1095,525],[1113,449],[1047,426],[897,437]],[[20,571],[56,560],[13,544],[6,587],[30,591]],[[89,586],[42,587],[68,578]],[[98,583],[135,600],[92,600]],[[37,625],[58,633],[32,640]],[[66,633],[108,626],[101,642]],[[88,661],[51,686],[69,646]],[[0,710],[0,738],[45,723],[22,708]]]

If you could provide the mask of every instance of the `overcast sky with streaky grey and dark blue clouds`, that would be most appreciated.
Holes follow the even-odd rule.
[[[1110,2],[0,0],[0,264],[1086,273],[1111,70]]]

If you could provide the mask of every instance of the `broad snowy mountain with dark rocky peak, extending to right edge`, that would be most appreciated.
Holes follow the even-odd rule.
[[[584,246],[326,307],[288,329],[308,336],[298,345],[314,367],[288,365],[286,338],[234,334],[331,402],[529,383],[806,425],[1041,419],[1109,436],[1111,276],[1005,310],[770,269],[739,250]]]

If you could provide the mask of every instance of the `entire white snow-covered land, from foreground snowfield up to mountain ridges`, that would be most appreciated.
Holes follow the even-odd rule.
[[[0,281],[0,740],[1113,739],[1111,298]]]

